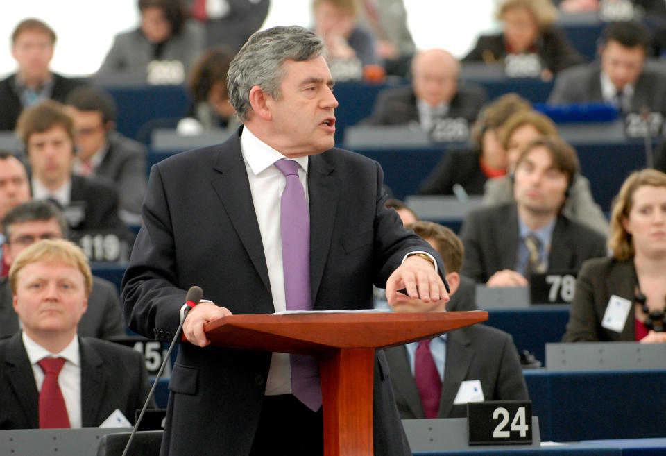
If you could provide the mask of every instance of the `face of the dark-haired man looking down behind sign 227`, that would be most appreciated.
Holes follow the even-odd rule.
[[[617,90],[633,84],[643,71],[645,51],[640,47],[624,47],[610,40],[601,51],[601,70],[610,78]]]

